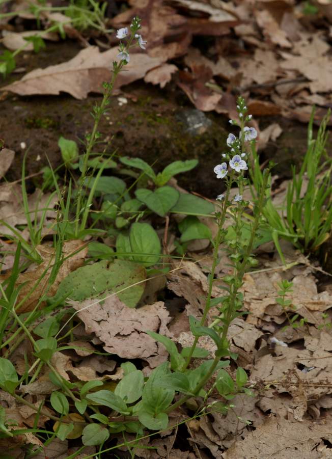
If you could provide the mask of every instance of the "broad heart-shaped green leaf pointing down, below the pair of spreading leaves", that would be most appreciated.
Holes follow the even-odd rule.
[[[137,199],[160,217],[165,217],[180,197],[180,193],[172,186],[162,186],[154,192],[146,190],[146,188],[139,188],[135,191],[135,195]]]

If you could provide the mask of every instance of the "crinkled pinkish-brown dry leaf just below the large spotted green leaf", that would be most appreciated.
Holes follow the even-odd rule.
[[[113,295],[102,304],[95,300],[70,304],[78,311],[86,331],[94,332],[104,343],[106,352],[125,359],[144,359],[152,368],[167,360],[164,347],[145,333],[151,330],[170,335],[167,324],[171,317],[163,302],[130,309]]]

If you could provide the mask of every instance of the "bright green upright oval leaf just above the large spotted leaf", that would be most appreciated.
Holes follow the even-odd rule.
[[[132,256],[134,261],[151,266],[160,259],[160,240],[148,223],[133,223],[130,228],[129,240],[131,250],[135,255]]]

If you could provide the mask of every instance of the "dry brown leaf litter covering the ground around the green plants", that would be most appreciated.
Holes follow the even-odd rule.
[[[331,55],[326,30],[323,33],[317,30],[309,35],[305,27],[307,19],[295,8],[294,2],[259,2],[255,6],[251,2],[234,2],[234,5],[232,2],[210,3],[181,0],[164,5],[160,1],[131,0],[130,8],[115,17],[113,24],[117,27],[126,25],[133,14],[142,15],[143,32],[148,37],[148,55],[133,55],[132,67],[128,67],[129,72],[120,80],[119,86],[144,78],[147,83],[164,87],[174,79],[199,109],[232,114],[235,98],[230,92],[224,91],[227,85],[233,90],[245,90],[250,95],[248,106],[255,115],[282,114],[300,117],[306,122],[308,107],[313,102],[322,109],[329,106]],[[321,5],[319,8],[325,20],[331,21],[329,10],[324,12]],[[311,26],[316,26],[314,19]],[[203,55],[191,45],[191,38],[209,34],[216,37],[215,45]],[[223,48],[218,40],[220,37],[227,38],[232,52],[226,46]],[[240,41],[246,44],[245,52],[243,48],[240,50]],[[115,48],[110,48],[100,53],[97,47],[91,46],[80,51],[68,63],[30,72],[5,89],[27,95],[44,94],[51,88],[53,94],[65,91],[73,97],[84,98],[89,92],[98,91],[102,80],[108,78],[109,67],[106,63],[112,61],[116,52]],[[183,58],[184,70],[174,60],[179,58]],[[78,62],[81,65],[77,65]],[[63,78],[56,83],[59,75]],[[221,92],[218,92],[219,86]],[[269,139],[277,139],[280,132],[281,128],[276,123],[262,130],[261,148]],[[5,153],[6,159],[0,163],[1,175],[10,168],[14,156],[13,152],[2,150],[1,154]],[[41,208],[48,198],[49,195],[43,198]],[[30,197],[32,209],[36,209],[33,206],[38,199],[41,198]],[[3,220],[6,217],[6,222],[14,228],[26,224],[19,186],[2,184],[0,200]],[[52,204],[55,205],[56,201],[52,201]],[[49,219],[54,218],[54,205],[49,206]],[[38,212],[35,218],[39,218]],[[8,235],[7,227],[2,227],[1,231]],[[29,236],[24,234],[24,237]],[[64,253],[84,246],[82,241],[72,241],[71,244],[71,247],[64,247]],[[47,272],[54,254],[46,244],[38,250],[41,251],[43,262],[21,274],[17,285],[33,283],[41,272]],[[69,382],[94,379],[116,383],[123,376],[118,358],[141,359],[148,373],[151,368],[167,360],[164,347],[146,334],[148,330],[166,335],[182,346],[190,345],[188,315],[199,318],[202,314],[210,254],[203,253],[201,256],[198,251],[196,255],[190,255],[196,262],[181,261],[176,271],[167,276],[167,286],[161,284],[155,287],[184,300],[177,314],[170,313],[167,302],[156,301],[158,295],[154,287],[147,296],[142,296],[141,288],[134,301],[136,306],[141,298],[146,298],[148,304],[143,301],[136,309],[128,308],[113,291],[126,288],[126,284],[121,282],[121,285],[112,285],[113,289],[107,289],[101,282],[94,295],[88,289],[82,298],[72,299],[70,306],[76,311],[75,320],[78,318],[83,326],[77,327],[74,339],[66,343],[70,349],[53,356],[52,363],[63,377]],[[86,256],[87,251],[83,250],[77,253],[76,259],[69,258],[71,261],[64,266],[57,279],[57,289],[70,273],[76,273],[79,277],[79,269],[84,269],[81,266]],[[213,457],[223,458],[256,458],[264,455],[271,459],[302,459],[329,456],[328,444],[332,442],[332,339],[328,329],[324,328],[322,313],[331,314],[332,295],[328,291],[318,290],[315,269],[300,259],[298,253],[290,251],[289,256],[287,261],[297,259],[299,263],[286,270],[280,269],[281,263],[276,255],[271,261],[261,252],[261,272],[259,269],[258,272],[246,274],[242,287],[248,315],[236,319],[230,328],[232,352],[238,354],[239,365],[247,371],[254,396],[236,396],[232,400],[233,407],[225,415],[211,412],[196,423],[188,422],[186,439],[194,446],[192,451],[195,453],[176,449],[176,432],[173,431],[172,435],[165,435],[164,438],[147,440],[146,444],[156,447],[157,452],[142,452],[136,448],[137,456],[192,459],[206,457],[206,451]],[[224,259],[224,265],[221,263],[217,269],[218,276],[227,274],[227,262]],[[106,264],[101,266],[101,272],[108,275]],[[10,271],[10,264],[7,269]],[[144,285],[145,274],[141,273],[137,279]],[[306,323],[297,329],[284,329],[287,315],[275,301],[278,296],[277,284],[282,279],[294,283],[289,298],[296,308],[295,312],[306,319]],[[93,286],[96,287],[96,284]],[[40,300],[44,288],[41,285],[37,289],[36,298],[26,310],[33,308]],[[62,288],[70,297],[69,291]],[[220,289],[215,287],[213,296],[218,295]],[[214,315],[212,308],[209,323]],[[200,345],[213,355],[213,342],[202,337]],[[102,348],[108,356],[96,355],[98,348]],[[32,349],[23,342],[12,356],[19,374],[25,370],[25,353],[29,360]],[[232,373],[234,368],[231,367],[230,371]],[[36,407],[53,390],[56,390],[56,386],[47,380],[47,374],[43,372],[35,383],[22,385],[22,393]],[[20,406],[9,397],[8,394],[1,394],[7,415],[14,417],[21,427],[33,425],[34,410]],[[212,404],[215,401],[219,400],[212,394],[209,402]],[[187,414],[181,413],[181,416],[186,418]],[[47,416],[41,415],[39,425],[43,426],[46,420]],[[35,441],[38,444],[37,438],[20,439],[18,448],[24,442],[34,444]],[[17,457],[20,451],[18,449]],[[67,452],[67,441],[58,439],[54,439],[44,451],[48,457],[54,458],[66,457]],[[44,457],[44,453],[36,457]]]

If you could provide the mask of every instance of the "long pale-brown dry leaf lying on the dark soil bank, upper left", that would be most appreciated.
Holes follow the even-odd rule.
[[[2,90],[20,95],[58,95],[63,91],[76,99],[84,99],[89,92],[102,92],[102,83],[110,79],[112,62],[117,59],[118,53],[117,47],[100,52],[97,46],[90,46],[70,61],[33,70]],[[147,71],[161,62],[162,59],[151,58],[147,53],[130,53],[130,64],[126,65],[125,72],[120,73],[115,87],[144,77]]]

